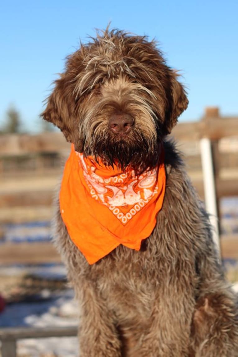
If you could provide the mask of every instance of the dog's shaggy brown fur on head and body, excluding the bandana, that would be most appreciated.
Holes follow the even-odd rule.
[[[121,245],[90,266],[58,208],[55,240],[80,302],[82,357],[238,356],[235,296],[207,213],[166,141],[188,104],[177,78],[155,42],[106,30],[67,58],[42,113],[77,151],[106,165],[139,172],[157,164],[162,142],[165,152],[163,207],[140,251]],[[113,131],[113,116],[130,116],[129,129]]]

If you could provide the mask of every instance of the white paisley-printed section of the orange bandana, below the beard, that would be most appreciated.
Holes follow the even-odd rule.
[[[83,154],[77,152],[77,155],[90,195],[107,206],[123,225],[158,193],[158,167],[139,176],[135,175],[134,170],[127,169],[116,176],[103,178],[96,174],[94,165],[86,165]]]

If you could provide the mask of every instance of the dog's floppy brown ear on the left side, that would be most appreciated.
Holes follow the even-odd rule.
[[[41,113],[41,117],[56,125],[66,140],[75,144],[76,151],[82,151],[79,120],[75,114],[74,88],[64,74],[55,81],[55,88],[46,102],[46,109]]]

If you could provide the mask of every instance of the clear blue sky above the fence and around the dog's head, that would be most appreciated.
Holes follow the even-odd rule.
[[[40,130],[42,101],[65,56],[109,21],[155,37],[168,64],[181,70],[189,106],[179,120],[197,120],[209,105],[237,115],[237,14],[237,0],[2,0],[0,126],[14,105],[27,131]]]

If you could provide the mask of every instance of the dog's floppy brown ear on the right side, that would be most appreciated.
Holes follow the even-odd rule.
[[[188,106],[186,91],[182,84],[178,82],[178,76],[175,71],[171,71],[171,75],[169,76],[168,110],[164,121],[164,134],[171,133],[171,130],[178,121],[179,115],[181,115]]]

